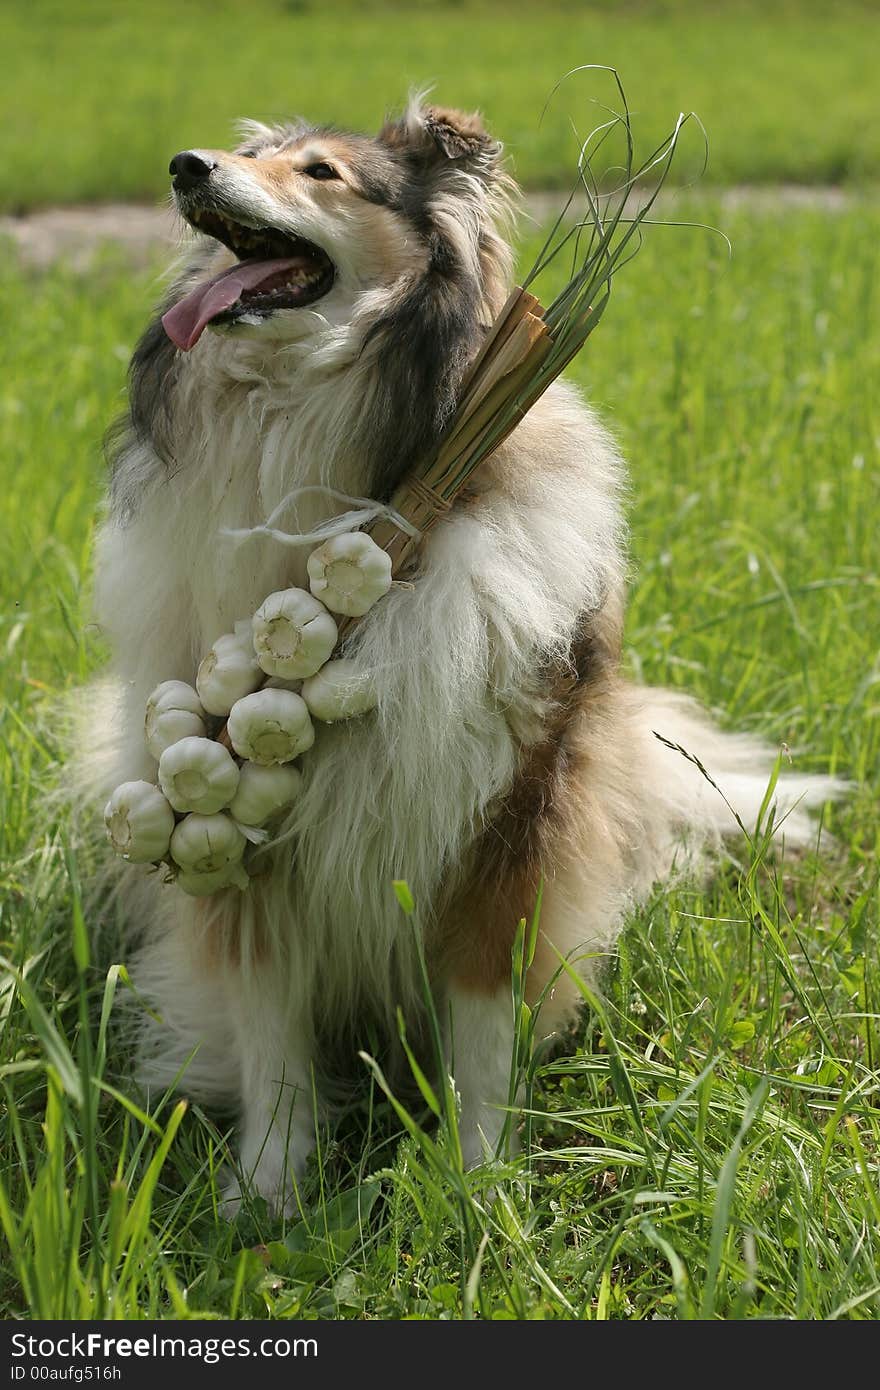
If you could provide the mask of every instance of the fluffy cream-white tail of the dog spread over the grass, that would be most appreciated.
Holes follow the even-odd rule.
[[[683,695],[637,688],[633,734],[645,812],[634,855],[635,895],[676,870],[692,870],[730,837],[772,830],[787,848],[816,847],[826,802],[848,783],[787,769],[790,755],[749,734],[713,726]]]

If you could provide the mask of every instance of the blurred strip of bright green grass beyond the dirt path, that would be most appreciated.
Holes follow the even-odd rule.
[[[582,63],[620,68],[645,149],[696,110],[715,182],[880,177],[872,0],[7,0],[0,44],[0,208],[161,197],[171,154],[227,145],[241,115],[373,131],[425,83],[482,108],[523,181],[567,185],[569,115],[585,135],[610,86],[581,79],[539,118]]]

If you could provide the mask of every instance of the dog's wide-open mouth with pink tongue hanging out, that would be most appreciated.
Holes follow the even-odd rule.
[[[209,324],[304,309],[334,284],[334,263],[314,242],[272,227],[246,227],[215,211],[193,210],[185,217],[196,231],[235,252],[238,265],[190,289],[163,314],[163,328],[181,352],[195,348]]]

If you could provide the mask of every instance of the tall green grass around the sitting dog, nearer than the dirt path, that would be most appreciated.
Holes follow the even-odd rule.
[[[709,887],[658,891],[601,1011],[538,1058],[534,1147],[502,1175],[464,1177],[364,1070],[286,1227],[218,1216],[207,1116],[124,1098],[113,924],[89,962],[89,865],[46,809],[47,696],[99,659],[99,436],[154,288],[3,260],[0,949],[25,980],[0,994],[7,1315],[880,1312],[880,208],[724,227],[731,261],[651,231],[577,367],[631,460],[627,662],[852,777],[837,844],[780,863],[759,835]]]

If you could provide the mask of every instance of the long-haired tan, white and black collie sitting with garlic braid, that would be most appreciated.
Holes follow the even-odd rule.
[[[153,687],[192,682],[268,594],[307,588],[307,550],[225,532],[291,493],[300,532],[346,496],[388,499],[437,443],[512,284],[514,186],[478,117],[414,100],[375,138],[252,122],[242,138],[171,160],[196,235],[136,348],[111,441],[97,607],[113,667],[106,699],[82,701],[85,745],[106,746],[104,795],[156,778]],[[528,998],[556,976],[544,1036],[577,1004],[560,956],[594,973],[652,884],[737,834],[731,806],[755,823],[773,766],[687,699],[621,677],[621,461],[570,385],[477,477],[410,582],[349,639],[378,708],[317,728],[250,888],[196,901],[122,870],[150,1005],[140,1080],[234,1109],[241,1182],[274,1209],[291,1202],[338,1061],[359,1038],[393,1040],[398,1009],[410,1037],[424,1026],[417,942],[474,1163],[503,1127],[512,944],[541,885]],[[833,791],[780,780],[788,842]]]

